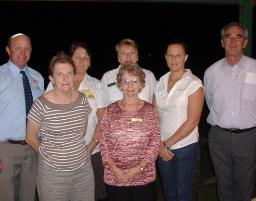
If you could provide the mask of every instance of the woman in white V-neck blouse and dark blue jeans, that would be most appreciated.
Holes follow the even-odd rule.
[[[192,201],[204,90],[201,80],[185,69],[188,53],[183,42],[169,43],[165,59],[170,71],[155,90],[161,129],[157,163],[166,201]]]

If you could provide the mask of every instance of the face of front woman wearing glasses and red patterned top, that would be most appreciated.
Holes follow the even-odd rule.
[[[122,76],[120,89],[124,97],[137,97],[142,89],[140,78],[125,72]]]

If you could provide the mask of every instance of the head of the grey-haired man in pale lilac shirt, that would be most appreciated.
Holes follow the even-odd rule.
[[[244,30],[239,26],[229,27],[221,40],[226,56],[241,56],[246,48],[248,40],[245,38]]]

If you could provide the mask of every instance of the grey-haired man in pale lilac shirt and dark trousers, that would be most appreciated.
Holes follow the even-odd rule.
[[[244,55],[248,31],[233,22],[223,27],[225,58],[205,72],[212,126],[208,136],[220,201],[250,201],[256,171],[256,60]]]

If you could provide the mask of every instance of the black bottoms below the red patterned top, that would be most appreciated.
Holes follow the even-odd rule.
[[[156,182],[142,186],[107,185],[108,201],[156,201]]]

